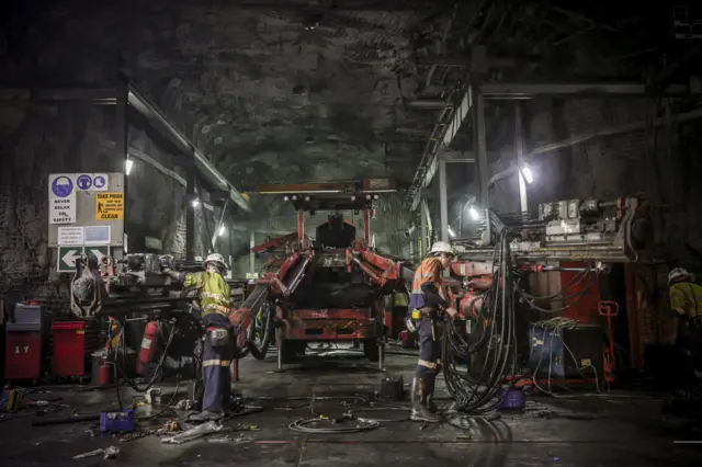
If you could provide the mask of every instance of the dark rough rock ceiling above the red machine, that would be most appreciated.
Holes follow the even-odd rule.
[[[10,20],[27,26],[1,37],[0,65],[5,80],[38,86],[104,86],[125,72],[237,185],[410,179],[424,139],[398,129],[431,128],[431,114],[403,105],[423,83],[415,59],[442,53],[452,19],[469,36],[480,2],[460,2],[458,15],[435,1],[204,3],[25,7]],[[534,9],[501,7],[485,15],[496,30],[540,25]],[[388,148],[406,162],[388,167]]]

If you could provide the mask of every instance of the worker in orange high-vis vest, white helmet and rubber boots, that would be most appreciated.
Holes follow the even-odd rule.
[[[441,369],[441,333],[444,312],[451,318],[456,310],[441,295],[441,273],[451,265],[454,252],[445,241],[438,241],[421,262],[412,281],[409,297],[411,322],[419,332],[419,361],[412,380],[411,420],[439,422],[441,417],[433,403],[437,375]]]

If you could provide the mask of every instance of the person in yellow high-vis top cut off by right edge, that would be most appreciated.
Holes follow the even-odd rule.
[[[670,343],[676,343],[680,321],[686,321],[692,369],[698,383],[702,384],[702,287],[697,285],[694,276],[682,267],[670,271],[668,287],[673,316]]]

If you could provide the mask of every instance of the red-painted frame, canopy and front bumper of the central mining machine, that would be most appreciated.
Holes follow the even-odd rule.
[[[339,249],[338,254],[341,258],[346,255],[349,272],[354,269],[362,271],[370,283],[383,288],[386,294],[395,289],[401,277],[401,264],[369,250],[372,204],[377,198],[373,193],[397,191],[396,183],[392,180],[374,179],[363,183],[269,184],[259,187],[258,191],[284,194],[297,209],[296,234],[279,237],[251,249],[253,252],[276,251],[285,254],[284,258],[269,262],[259,281],[259,285],[269,287],[271,298],[284,301],[284,298],[295,292],[302,277],[309,273],[309,269],[317,267],[313,261],[315,251],[309,248],[309,238],[305,235],[304,213],[307,210],[363,210],[363,238],[356,239],[346,251]],[[344,223],[351,224],[346,219]],[[380,339],[384,329],[392,329],[393,326],[393,309],[386,309],[382,298],[370,308],[288,309],[280,305],[281,301],[275,309],[279,344],[283,340]],[[250,310],[241,311],[250,314]]]

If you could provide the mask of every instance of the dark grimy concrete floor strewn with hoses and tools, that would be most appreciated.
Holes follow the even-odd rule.
[[[410,381],[414,362],[412,357],[388,355],[387,373],[403,375],[405,381]],[[347,435],[302,434],[288,429],[292,421],[312,417],[313,410],[316,414],[339,417],[350,408],[369,407],[362,399],[380,389],[382,377],[372,364],[353,357],[327,363],[312,357],[302,366],[288,366],[284,373],[275,373],[274,354],[264,362],[248,357],[241,362],[238,388],[247,397],[268,398],[249,401],[265,409],[225,424],[256,424],[260,431],[229,433],[228,441],[215,434],[210,441],[165,445],[155,435],[132,442],[121,442],[107,434],[91,436],[87,433],[90,423],[33,428],[31,417],[21,417],[0,421],[0,465],[702,465],[702,444],[673,443],[702,441],[702,431],[688,421],[664,417],[660,397],[631,392],[558,399],[531,397],[524,413],[503,414],[491,422],[474,420],[466,430],[449,424],[422,428],[409,421],[386,422],[378,429]],[[443,385],[440,391],[442,388]],[[309,403],[313,395],[314,407]],[[71,410],[92,413],[117,407],[113,390],[79,392],[75,387],[53,388],[27,399],[54,397],[61,397],[60,403],[70,406],[59,413]],[[124,400],[131,397],[123,390]],[[398,419],[407,414],[390,410],[365,417]],[[110,445],[121,449],[114,460],[71,459],[76,454]]]

